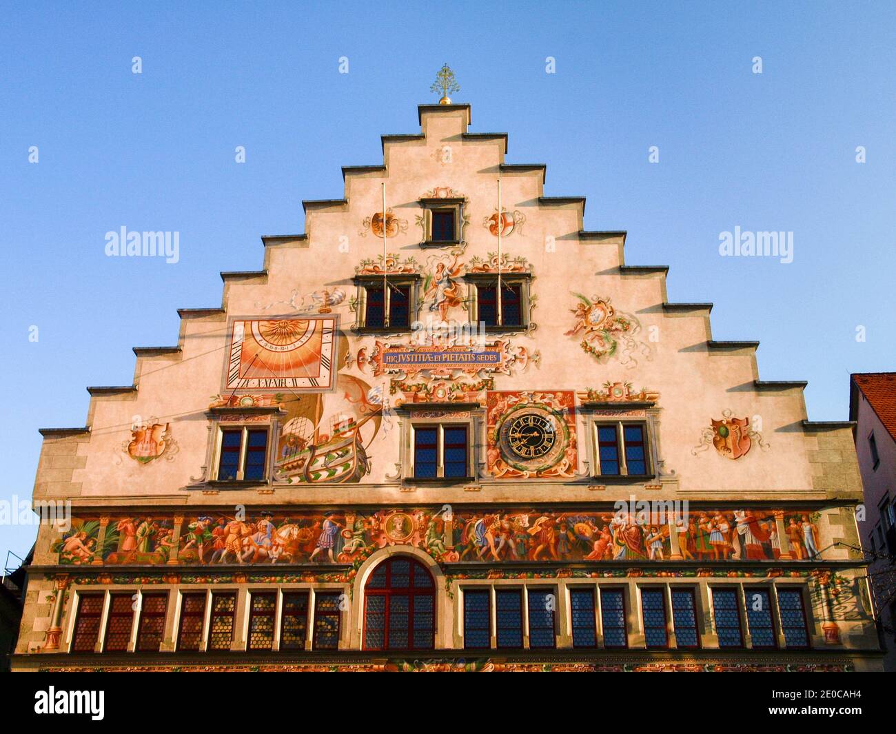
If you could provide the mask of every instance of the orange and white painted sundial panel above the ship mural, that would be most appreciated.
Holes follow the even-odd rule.
[[[224,389],[332,389],[337,326],[335,316],[234,319]]]

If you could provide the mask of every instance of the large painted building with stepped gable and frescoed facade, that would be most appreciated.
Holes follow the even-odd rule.
[[[880,669],[851,424],[418,114],[41,431],[13,669]]]

